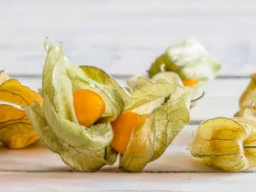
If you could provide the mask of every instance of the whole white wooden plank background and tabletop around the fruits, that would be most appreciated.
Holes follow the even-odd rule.
[[[202,120],[236,113],[239,96],[256,72],[255,21],[254,0],[0,1],[0,69],[33,89],[41,86],[46,37],[62,42],[73,63],[101,67],[120,84],[186,38],[197,38],[223,64],[171,152],[147,166],[151,173],[63,172],[68,167],[45,148],[2,148],[0,189],[240,191],[247,185],[254,191],[253,172],[212,173],[184,148]]]

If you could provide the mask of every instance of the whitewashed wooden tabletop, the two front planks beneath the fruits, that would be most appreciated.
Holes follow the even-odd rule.
[[[254,191],[255,173],[218,172],[185,150],[197,126],[188,125],[160,159],[143,173],[118,172],[117,165],[95,173],[68,172],[49,149],[0,150],[0,189],[18,191]]]

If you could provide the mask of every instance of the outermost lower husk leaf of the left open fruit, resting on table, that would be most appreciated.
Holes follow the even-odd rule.
[[[118,153],[112,147],[73,147],[73,145],[63,141],[61,137],[57,137],[52,126],[44,119],[44,112],[38,103],[35,103],[32,108],[26,107],[26,113],[45,145],[53,152],[60,154],[61,159],[73,169],[80,172],[95,172],[102,166],[106,164],[113,165],[115,162]]]

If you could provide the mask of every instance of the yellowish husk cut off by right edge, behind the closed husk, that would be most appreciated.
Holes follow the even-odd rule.
[[[239,111],[235,116],[256,120],[256,74],[252,75],[247,89],[242,93],[239,100]]]

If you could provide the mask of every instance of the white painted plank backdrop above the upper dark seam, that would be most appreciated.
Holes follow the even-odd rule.
[[[255,71],[256,3],[248,1],[7,1],[0,3],[0,68],[39,74],[44,38],[63,42],[78,64],[140,73],[168,46],[198,38],[222,73]]]

